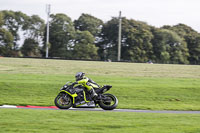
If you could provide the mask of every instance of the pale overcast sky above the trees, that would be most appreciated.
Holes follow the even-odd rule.
[[[88,13],[106,22],[122,11],[128,19],[156,27],[183,23],[200,32],[200,0],[0,0],[0,10],[36,14],[46,20],[46,4],[51,4],[51,13],[65,13],[72,20]]]

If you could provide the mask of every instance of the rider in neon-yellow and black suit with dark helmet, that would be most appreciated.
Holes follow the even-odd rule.
[[[75,78],[76,78],[76,82],[74,82],[73,85],[81,84],[87,88],[88,92],[90,93],[90,95],[93,99],[95,99],[97,97],[97,93],[94,90],[94,88],[100,87],[97,83],[95,83],[90,78],[86,77],[85,73],[83,73],[83,72],[76,73]]]

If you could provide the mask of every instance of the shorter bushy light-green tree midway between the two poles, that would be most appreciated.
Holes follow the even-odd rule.
[[[73,50],[74,59],[97,60],[98,48],[94,36],[89,31],[77,31]]]

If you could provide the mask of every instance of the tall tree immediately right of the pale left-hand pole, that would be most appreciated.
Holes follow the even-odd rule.
[[[65,14],[51,15],[49,42],[51,57],[71,58],[71,48],[75,29],[71,19]],[[46,39],[46,38],[44,38]]]

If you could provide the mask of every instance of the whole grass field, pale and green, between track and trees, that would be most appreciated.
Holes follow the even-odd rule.
[[[0,105],[54,105],[79,71],[112,85],[118,108],[200,110],[200,66],[20,58],[0,58]]]

